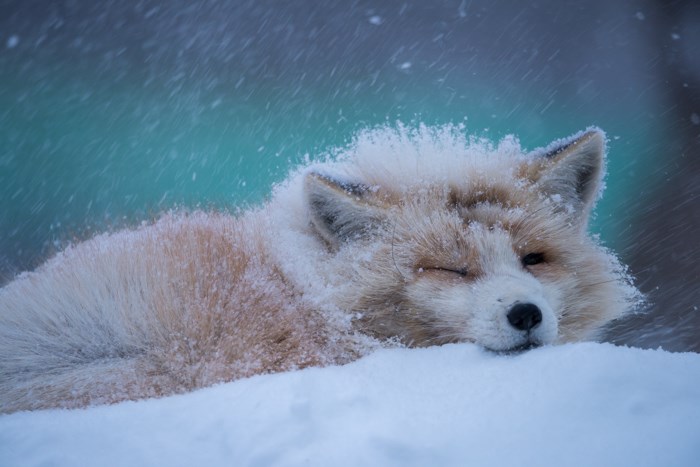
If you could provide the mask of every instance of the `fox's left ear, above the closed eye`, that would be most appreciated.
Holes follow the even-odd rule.
[[[375,190],[311,172],[304,183],[311,224],[329,244],[366,237],[385,219]]]

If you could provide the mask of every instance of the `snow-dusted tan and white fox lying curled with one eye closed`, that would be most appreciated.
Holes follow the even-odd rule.
[[[607,140],[360,132],[259,206],[175,210],[0,289],[0,412],[184,393],[384,347],[597,339],[639,292],[588,232]]]

